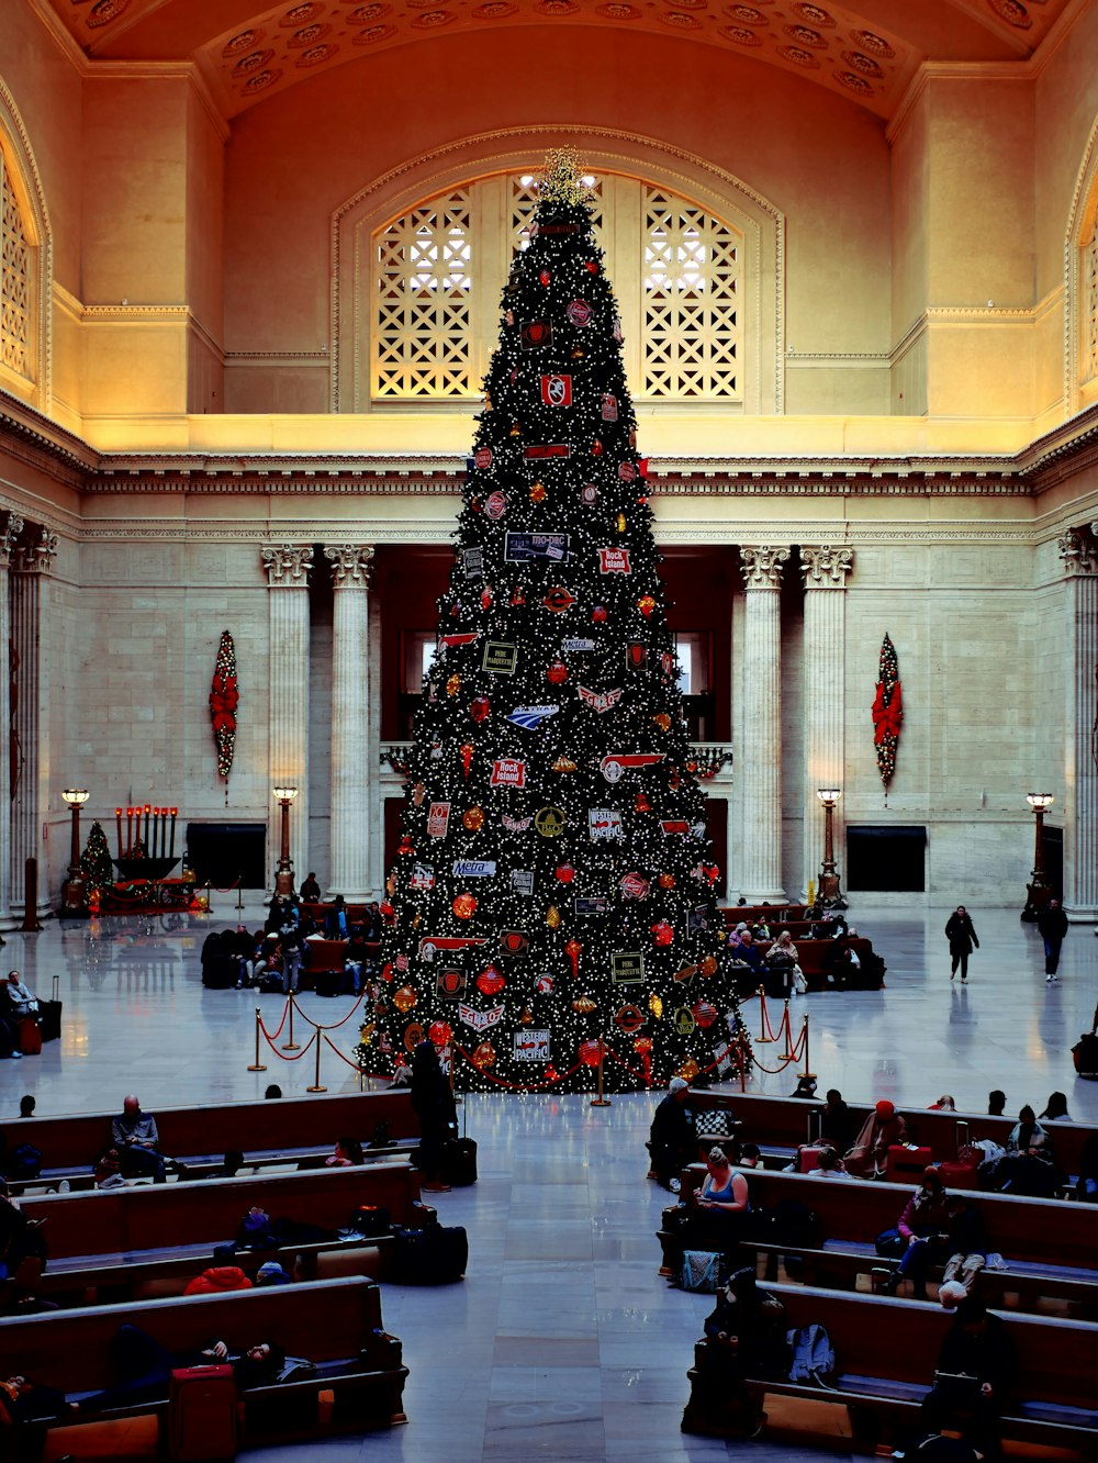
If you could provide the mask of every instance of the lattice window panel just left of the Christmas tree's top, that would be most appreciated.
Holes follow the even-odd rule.
[[[376,396],[463,396],[477,389],[471,236],[465,189],[414,208],[376,236]]]

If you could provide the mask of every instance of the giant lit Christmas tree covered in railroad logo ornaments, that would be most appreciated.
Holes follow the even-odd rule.
[[[455,1084],[481,1090],[589,1090],[599,1052],[610,1088],[692,1078],[738,1007],[621,328],[567,152],[478,421],[360,1053],[452,1042]]]

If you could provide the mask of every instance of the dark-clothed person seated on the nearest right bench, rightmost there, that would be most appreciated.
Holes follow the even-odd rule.
[[[1013,1377],[1006,1325],[969,1296],[956,1308],[939,1352],[934,1387],[923,1399],[925,1434],[959,1431],[984,1457],[997,1459],[999,1416]]]

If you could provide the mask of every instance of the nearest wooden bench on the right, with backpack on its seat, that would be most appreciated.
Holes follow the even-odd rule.
[[[769,1378],[749,1378],[760,1399],[797,1397],[847,1407],[860,1450],[873,1451],[883,1438],[899,1441],[917,1426],[918,1407],[930,1391],[942,1339],[952,1324],[942,1308],[921,1301],[893,1301],[835,1290],[768,1286],[785,1306],[785,1327],[813,1323],[835,1346],[835,1390]],[[1098,1327],[1050,1317],[1004,1317],[1015,1350],[1016,1374],[1002,1419],[1004,1438],[1067,1447],[1094,1457],[1098,1447]],[[738,1412],[730,1407],[719,1366],[708,1365],[700,1342],[687,1372],[690,1402],[684,1432],[734,1435]],[[828,1429],[833,1441],[833,1429]]]

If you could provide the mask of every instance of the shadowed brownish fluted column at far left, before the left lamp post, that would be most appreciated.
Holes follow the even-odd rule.
[[[50,657],[42,654],[44,578],[57,553],[57,534],[38,528],[15,552],[12,579],[12,651],[16,702],[12,762],[12,909],[26,910],[26,860],[38,860],[38,914],[50,910],[42,824],[50,799],[48,691]]]

